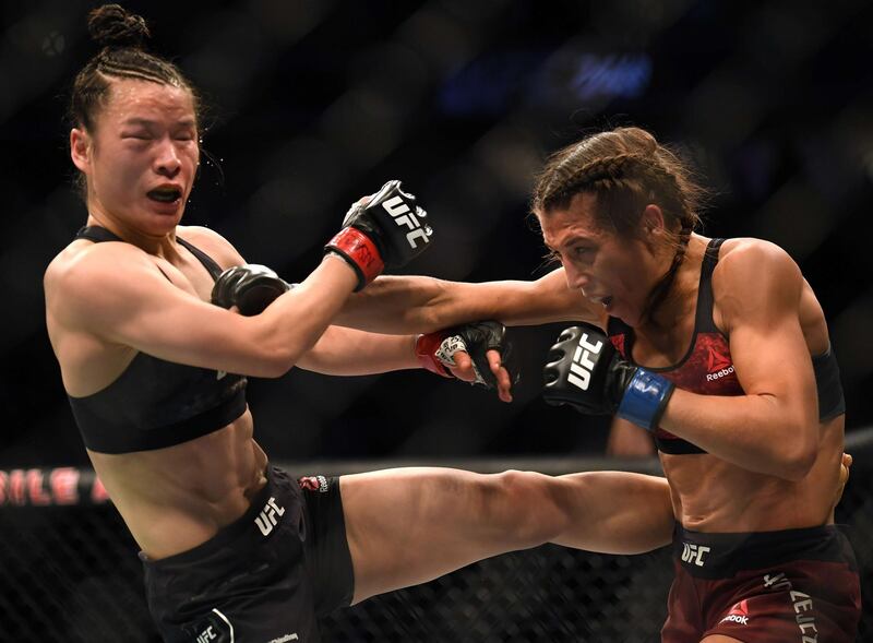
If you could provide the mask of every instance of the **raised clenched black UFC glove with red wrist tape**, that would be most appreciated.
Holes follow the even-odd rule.
[[[358,291],[385,267],[405,265],[424,251],[432,234],[427,217],[416,198],[400,190],[400,181],[388,181],[367,203],[351,206],[324,250],[355,269]]]

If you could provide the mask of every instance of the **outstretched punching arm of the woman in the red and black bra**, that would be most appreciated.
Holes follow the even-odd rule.
[[[433,277],[380,277],[349,298],[335,322],[378,333],[429,333],[493,319],[506,325],[595,321],[591,306],[570,290],[562,271],[536,282],[468,284]]]

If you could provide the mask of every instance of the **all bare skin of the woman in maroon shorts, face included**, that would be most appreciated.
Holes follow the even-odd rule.
[[[613,314],[634,328],[637,364],[677,364],[692,341],[709,239],[692,236],[669,297],[648,319],[643,314],[646,296],[672,249],[643,240],[620,242],[597,231],[586,197],[577,195],[566,211],[540,216],[543,239],[563,264],[545,277],[485,284],[383,277],[352,297],[335,323],[375,301],[403,323],[420,328],[470,319],[509,325],[587,321],[606,328]],[[663,225],[658,215],[651,218],[655,229],[659,221]],[[841,489],[845,416],[818,421],[811,356],[827,349],[828,335],[812,288],[778,247],[731,239],[721,247],[713,289],[714,320],[729,338],[745,395],[673,394],[661,427],[708,451],[660,454],[677,519],[702,532],[830,522]]]

